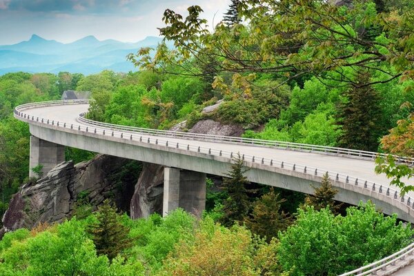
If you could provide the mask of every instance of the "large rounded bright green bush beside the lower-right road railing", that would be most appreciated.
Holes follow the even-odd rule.
[[[279,262],[293,275],[339,275],[381,259],[411,242],[411,226],[397,224],[368,202],[347,209],[345,217],[330,210],[298,209],[293,226],[279,234]]]

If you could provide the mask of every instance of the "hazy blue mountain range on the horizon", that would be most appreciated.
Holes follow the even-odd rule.
[[[30,40],[0,46],[0,75],[7,72],[79,72],[89,75],[108,69],[115,72],[137,70],[126,55],[141,47],[155,47],[162,39],[146,37],[136,43],[93,36],[72,43],[46,40],[33,34]]]

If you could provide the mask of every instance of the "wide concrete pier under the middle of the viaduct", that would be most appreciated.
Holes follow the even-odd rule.
[[[177,208],[201,216],[206,208],[206,173],[164,168],[163,216]]]

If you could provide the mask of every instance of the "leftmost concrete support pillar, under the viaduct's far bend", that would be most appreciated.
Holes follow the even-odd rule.
[[[29,177],[38,177],[32,168],[42,165],[43,176],[57,164],[65,161],[65,146],[30,137],[30,168]]]

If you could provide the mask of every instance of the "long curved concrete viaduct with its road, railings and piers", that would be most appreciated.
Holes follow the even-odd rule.
[[[165,215],[177,207],[204,209],[206,173],[226,175],[239,154],[250,168],[250,181],[313,193],[312,186],[328,172],[339,190],[338,201],[357,205],[369,199],[384,213],[414,222],[414,193],[402,197],[398,188],[389,186],[389,179],[375,174],[375,152],[104,124],[83,117],[88,106],[88,100],[72,100],[15,108],[14,117],[30,126],[30,168],[41,164],[48,172],[64,161],[64,146],[164,165]],[[404,161],[413,164],[414,159]],[[392,273],[407,264],[410,258],[405,257],[413,251],[414,243],[345,275]]]

